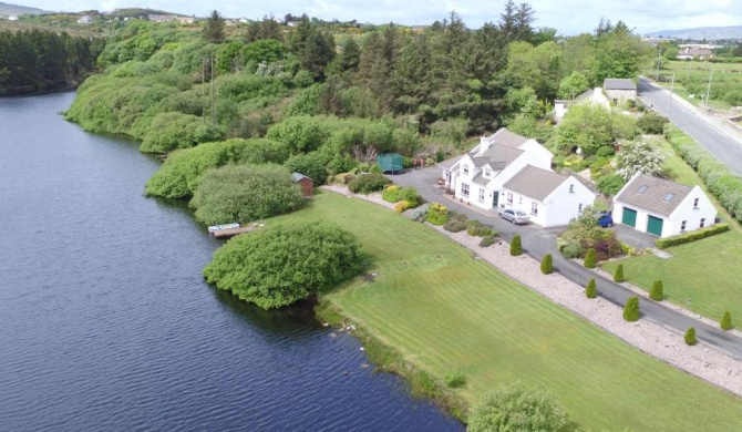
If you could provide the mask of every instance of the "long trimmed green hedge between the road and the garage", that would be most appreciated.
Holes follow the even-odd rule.
[[[676,153],[698,172],[709,192],[719,199],[726,212],[742,222],[742,177],[677,126],[668,125],[664,128],[664,137]]]

